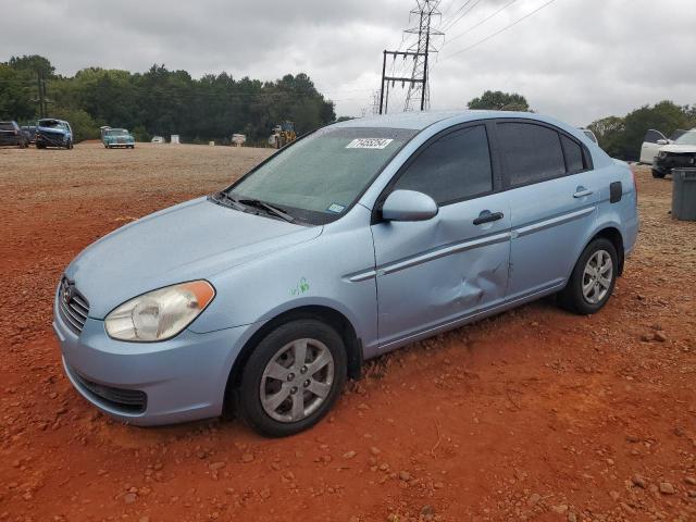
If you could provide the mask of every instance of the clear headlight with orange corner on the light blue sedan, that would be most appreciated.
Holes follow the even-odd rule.
[[[213,297],[215,289],[207,281],[182,283],[144,294],[107,315],[107,333],[120,340],[169,339],[188,326]]]

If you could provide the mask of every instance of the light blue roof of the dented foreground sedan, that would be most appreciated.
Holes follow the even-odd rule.
[[[334,124],[340,127],[386,127],[386,128],[409,128],[413,130],[423,130],[426,127],[439,122],[449,121],[452,125],[458,123],[467,123],[476,120],[490,120],[495,117],[514,119],[522,117],[525,120],[534,120],[550,123],[552,125],[569,128],[569,125],[555,119],[544,116],[532,112],[514,112],[514,111],[414,111],[398,112],[394,114],[382,114],[368,117],[357,117]]]

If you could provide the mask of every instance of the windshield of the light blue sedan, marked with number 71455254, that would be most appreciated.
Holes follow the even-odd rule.
[[[302,221],[328,223],[415,134],[402,128],[324,127],[271,157],[228,194],[273,204]]]

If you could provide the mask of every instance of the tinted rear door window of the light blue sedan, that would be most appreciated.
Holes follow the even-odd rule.
[[[511,187],[566,174],[561,140],[556,130],[534,123],[502,122],[497,124],[497,134]]]

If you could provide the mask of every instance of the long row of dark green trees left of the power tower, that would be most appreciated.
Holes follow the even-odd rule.
[[[233,133],[265,141],[283,121],[303,134],[336,119],[334,103],[306,74],[275,82],[227,73],[199,79],[154,64],[145,73],[88,67],[55,74],[44,57],[12,57],[0,63],[0,119],[30,123],[39,114],[39,78],[46,82],[47,116],[67,120],[76,140],[99,137],[99,127],[125,127],[139,140],[181,135],[189,142],[229,142]]]

